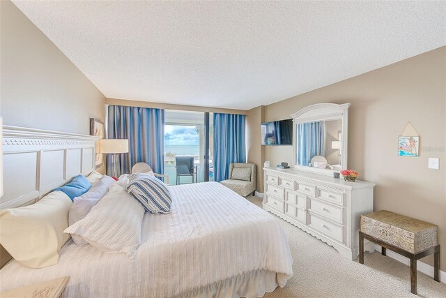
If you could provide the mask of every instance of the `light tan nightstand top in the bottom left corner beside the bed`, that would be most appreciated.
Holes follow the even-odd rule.
[[[63,297],[63,292],[70,280],[70,276],[56,278],[51,281],[43,281],[42,283],[35,283],[26,287],[1,292],[1,298],[17,298],[17,297],[32,297],[32,298],[59,298]]]

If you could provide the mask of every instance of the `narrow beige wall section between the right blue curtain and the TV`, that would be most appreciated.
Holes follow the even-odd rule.
[[[263,122],[265,106],[254,107],[246,114],[246,157],[248,163],[257,165],[256,191],[263,193],[263,161],[265,160],[265,147],[261,144],[260,124]]]

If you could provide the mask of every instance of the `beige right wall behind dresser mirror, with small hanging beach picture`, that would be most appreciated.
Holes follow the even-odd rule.
[[[268,105],[265,120],[323,102],[351,103],[348,167],[376,183],[374,209],[435,223],[446,255],[446,47]],[[417,158],[397,156],[408,121],[421,135]],[[267,146],[265,158],[291,163],[292,153],[292,147]],[[440,170],[427,168],[429,157],[440,158]]]

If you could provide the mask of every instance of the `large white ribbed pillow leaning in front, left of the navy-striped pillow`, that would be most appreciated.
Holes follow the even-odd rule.
[[[141,242],[144,208],[119,184],[109,192],[84,219],[65,231],[77,234],[106,253],[126,253],[133,258]]]

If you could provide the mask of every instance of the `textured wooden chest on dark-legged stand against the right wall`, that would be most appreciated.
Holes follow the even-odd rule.
[[[433,279],[440,282],[437,225],[381,210],[361,216],[359,236],[361,264],[364,264],[364,239],[380,245],[382,255],[390,249],[410,259],[410,292],[413,294],[417,295],[417,260],[426,255],[433,253]]]

